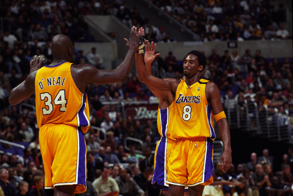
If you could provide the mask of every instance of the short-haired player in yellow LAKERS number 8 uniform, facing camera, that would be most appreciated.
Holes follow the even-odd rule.
[[[151,45],[149,50],[154,49]],[[149,75],[143,64],[143,56],[136,54],[135,57],[140,82],[156,90],[175,93],[169,119],[170,137],[176,138],[168,160],[166,182],[169,184],[169,195],[182,196],[186,185],[190,195],[202,195],[204,186],[213,182],[214,118],[224,144],[220,161],[224,165],[223,172],[230,168],[232,162],[230,130],[219,89],[215,83],[199,78],[206,66],[206,57],[199,51],[188,53],[183,61],[186,79],[181,81]]]

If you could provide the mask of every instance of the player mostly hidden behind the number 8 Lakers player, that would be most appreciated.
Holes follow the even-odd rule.
[[[154,48],[150,50],[150,43],[148,43],[148,49],[146,49],[144,55],[144,63],[147,69],[147,73],[152,74],[151,64],[156,59],[160,53],[155,54],[157,45],[154,42],[151,42],[151,46]],[[164,80],[172,80],[173,78],[164,78]],[[154,184],[154,188],[159,188],[162,190],[162,193],[167,195],[169,194],[168,184],[166,184],[166,174],[168,168],[168,158],[171,153],[172,145],[175,143],[174,138],[170,138],[170,118],[172,115],[173,109],[173,101],[175,98],[175,93],[171,91],[162,91],[151,88],[149,85],[147,86],[152,93],[160,98],[159,108],[158,108],[158,116],[157,116],[157,127],[159,134],[161,135],[161,139],[157,143],[156,151],[155,151],[155,159],[154,159],[154,176],[152,179],[152,184]],[[164,168],[164,169],[163,169]],[[188,188],[186,187],[186,193],[188,194]]]

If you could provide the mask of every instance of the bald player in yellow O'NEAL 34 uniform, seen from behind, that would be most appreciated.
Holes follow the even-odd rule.
[[[41,67],[40,57],[31,61],[31,73],[14,88],[9,103],[16,105],[36,95],[39,141],[45,168],[45,188],[55,188],[54,195],[73,195],[86,191],[86,147],[83,133],[89,123],[89,104],[85,87],[88,82],[111,84],[123,82],[131,70],[139,48],[140,34],[131,28],[128,52],[114,70],[99,70],[88,64],[71,62],[73,45],[65,35],[53,37],[53,62]]]

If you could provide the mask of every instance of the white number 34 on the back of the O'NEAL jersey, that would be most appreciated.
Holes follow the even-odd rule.
[[[47,97],[47,101],[45,101],[45,106],[48,107],[43,107],[43,115],[48,115],[51,114],[53,111],[53,104],[52,104],[52,96],[49,93],[40,93],[41,100],[44,101],[45,98]],[[55,99],[54,99],[54,104],[55,105],[60,105],[59,111],[65,112],[66,111],[66,104],[67,100],[65,99],[65,90],[60,90]]]

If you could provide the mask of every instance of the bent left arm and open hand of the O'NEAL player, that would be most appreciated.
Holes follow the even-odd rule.
[[[18,86],[12,89],[9,95],[9,103],[11,105],[16,105],[23,100],[29,98],[35,91],[34,89],[34,80],[38,69],[41,67],[45,59],[40,60],[40,56],[34,56],[34,59],[30,62],[30,74],[27,78],[21,82]]]

